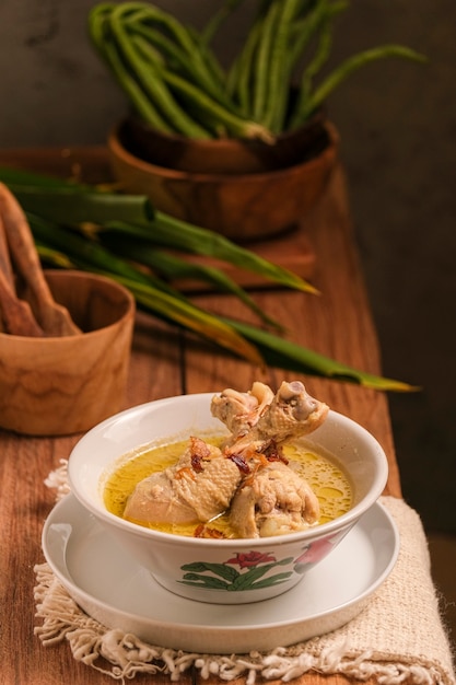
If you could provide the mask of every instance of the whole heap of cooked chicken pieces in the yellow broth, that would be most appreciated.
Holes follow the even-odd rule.
[[[207,523],[231,506],[241,537],[299,531],[319,516],[306,481],[287,466],[281,444],[309,433],[328,407],[304,385],[283,382],[274,395],[256,382],[248,393],[232,388],[214,396],[212,415],[231,436],[223,452],[199,438],[179,462],[139,483],[124,515],[140,523]]]

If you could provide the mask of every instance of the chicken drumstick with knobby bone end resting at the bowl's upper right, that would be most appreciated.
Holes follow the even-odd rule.
[[[323,423],[328,410],[325,403],[307,394],[300,381],[283,381],[276,396],[261,410],[258,420],[247,432],[232,441],[229,453],[264,452],[272,441],[280,445],[306,436]]]

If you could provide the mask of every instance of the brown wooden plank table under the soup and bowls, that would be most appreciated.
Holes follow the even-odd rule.
[[[3,151],[0,164],[68,174],[80,166],[87,181],[106,174],[103,149]],[[92,176],[91,176],[92,175]],[[288,337],[359,369],[377,373],[377,339],[353,243],[347,188],[340,170],[318,207],[302,229],[316,255],[314,285],[323,293],[313,297],[285,290],[256,293],[260,305],[288,327]],[[219,313],[246,317],[245,307],[231,297],[198,295],[197,301]],[[383,445],[390,473],[386,494],[400,497],[387,398],[358,385],[314,378],[303,379],[307,390],[331,408],[359,421]],[[187,334],[177,334],[152,317],[138,316],[129,386],[125,407],[182,393],[218,392],[227,386],[248,388],[254,380],[277,387],[290,374],[277,369],[259,371],[221,353]],[[34,566],[44,560],[40,534],[55,494],[44,480],[68,457],[80,436],[27,438],[0,431],[1,474],[1,654],[0,682],[5,685],[93,685],[112,682],[74,661],[68,645],[43,647],[34,636]],[[198,674],[182,677],[185,685]],[[341,685],[343,676],[307,674],[300,685]],[[165,675],[139,676],[140,683],[169,683]],[[204,681],[208,685],[217,678]],[[237,682],[237,685],[239,683]]]

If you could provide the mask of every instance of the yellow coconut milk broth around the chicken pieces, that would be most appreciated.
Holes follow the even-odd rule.
[[[222,437],[206,438],[207,442],[219,445],[222,440]],[[164,471],[175,464],[187,446],[187,440],[153,445],[150,449],[145,446],[121,463],[106,479],[104,501],[108,511],[122,516],[127,499],[136,485],[152,473]],[[284,453],[290,460],[290,465],[307,480],[318,497],[321,512],[319,523],[331,521],[350,509],[352,501],[350,481],[334,458],[317,454],[299,442],[287,445]],[[165,533],[192,536],[196,526],[151,523],[150,527]],[[227,514],[211,521],[210,527],[221,531],[225,537],[235,537]]]

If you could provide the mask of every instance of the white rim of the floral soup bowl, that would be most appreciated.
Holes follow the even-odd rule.
[[[356,504],[350,508],[349,511],[341,514],[340,516],[337,516],[332,521],[328,521],[326,523],[321,523],[316,526],[311,526],[304,531],[297,531],[294,533],[287,533],[284,535],[268,536],[268,537],[258,537],[258,538],[257,537],[255,538],[254,537],[247,537],[247,538],[237,537],[237,538],[230,538],[230,539],[217,538],[215,541],[212,538],[189,537],[189,536],[187,537],[184,535],[174,535],[172,533],[164,533],[162,531],[155,531],[153,529],[148,529],[140,524],[126,521],[125,519],[121,519],[120,516],[109,512],[106,508],[102,508],[101,506],[97,506],[96,503],[94,503],[93,499],[90,496],[85,495],[83,490],[79,489],[78,473],[77,473],[78,460],[80,460],[80,453],[83,450],[85,442],[87,442],[96,433],[102,433],[109,426],[118,421],[121,421],[125,418],[128,418],[129,416],[136,416],[142,413],[147,413],[151,408],[151,406],[155,406],[155,407],[159,405],[164,406],[165,404],[173,404],[175,402],[185,403],[185,402],[189,402],[190,398],[191,399],[197,398],[200,400],[204,400],[204,399],[210,400],[214,396],[214,394],[217,393],[214,392],[191,393],[191,394],[183,394],[183,395],[163,397],[161,399],[154,399],[151,402],[142,403],[140,405],[136,405],[128,409],[124,409],[122,411],[119,411],[118,414],[115,414],[114,416],[108,417],[107,419],[98,423],[97,426],[90,429],[84,436],[82,436],[82,438],[73,446],[68,458],[68,480],[69,480],[71,492],[75,496],[75,498],[81,502],[81,504],[85,509],[91,511],[104,524],[107,524],[110,527],[114,526],[115,529],[118,529],[119,531],[124,533],[128,532],[137,537],[142,537],[148,541],[156,541],[162,544],[169,544],[172,546],[178,543],[179,545],[185,546],[185,547],[195,547],[195,546],[200,546],[200,545],[213,547],[214,542],[215,542],[217,546],[220,546],[221,549],[222,548],[229,549],[229,548],[234,548],[234,547],[238,549],[243,549],[243,548],[254,549],[256,547],[265,547],[265,546],[270,546],[272,544],[274,546],[279,546],[279,545],[285,545],[285,544],[290,544],[294,542],[299,544],[302,544],[303,542],[309,543],[315,538],[320,538],[320,537],[330,535],[331,533],[337,533],[338,531],[354,524],[364,512],[366,512],[373,504],[375,504],[375,502],[378,500],[382,492],[384,491],[384,488],[386,486],[387,478],[388,478],[389,467],[388,467],[388,461],[387,461],[385,451],[383,450],[382,445],[371,432],[369,432],[363,426],[361,426],[361,423],[358,423],[356,421],[349,418],[348,416],[340,414],[339,411],[336,411],[334,409],[329,409],[326,421],[337,420],[339,422],[342,422],[344,426],[348,426],[354,429],[356,432],[360,432],[365,439],[372,441],[373,446],[375,448],[374,452],[376,455],[375,462],[376,462],[377,473],[375,475],[374,483],[371,487],[371,490]],[[220,432],[222,432],[222,430]],[[311,433],[311,436],[316,434],[316,433],[317,431],[314,431],[314,433]],[[151,439],[151,442],[152,441],[153,441],[153,438]],[[142,444],[147,444],[147,443],[142,443]],[[138,448],[140,446],[141,446],[141,443],[138,443]],[[135,450],[135,448],[132,449]],[[106,467],[104,467],[98,474],[98,480],[100,478],[102,478],[103,473],[105,472],[106,472]]]

